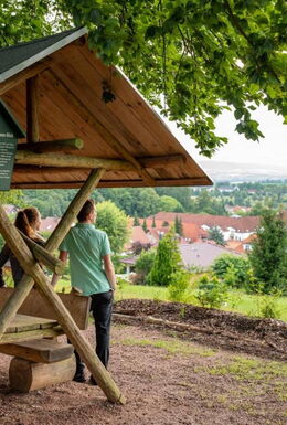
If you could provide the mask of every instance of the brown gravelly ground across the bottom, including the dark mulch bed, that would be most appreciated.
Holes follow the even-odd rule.
[[[88,383],[11,393],[11,358],[0,354],[0,424],[287,423],[286,323],[155,301],[120,301],[115,311],[204,330],[177,331],[140,320],[123,323],[117,317],[109,370],[127,396],[125,406],[108,403],[102,390]],[[94,340],[93,325],[85,333]]]

